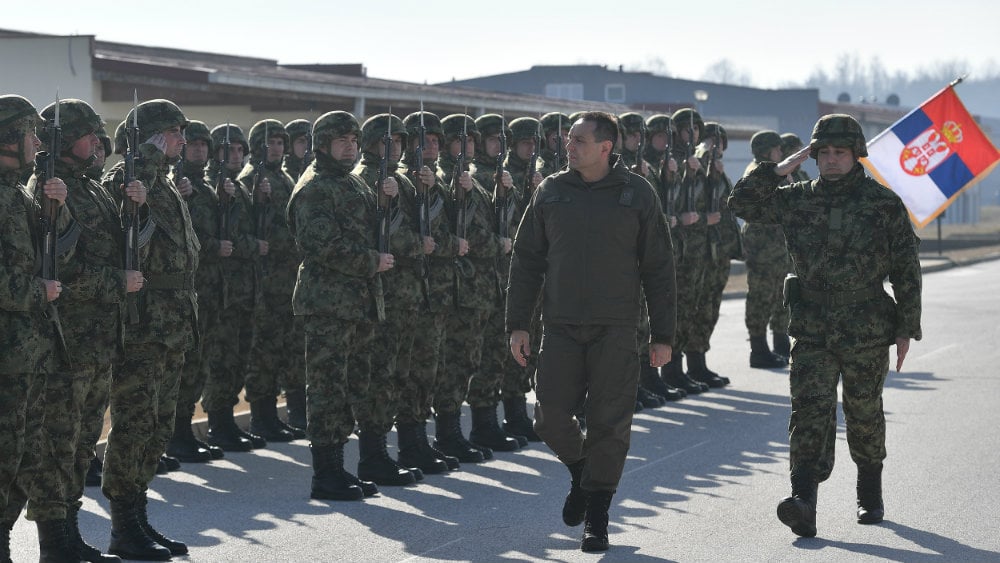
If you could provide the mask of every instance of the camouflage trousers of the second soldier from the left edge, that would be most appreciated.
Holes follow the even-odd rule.
[[[38,463],[22,471],[11,489],[5,522],[16,521],[25,505],[28,520],[37,521],[61,520],[71,504],[82,505],[84,479],[104,428],[111,366],[74,367],[47,378],[43,447]]]

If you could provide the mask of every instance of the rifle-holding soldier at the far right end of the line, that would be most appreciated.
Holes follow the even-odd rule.
[[[729,210],[726,199],[733,189],[733,184],[726,175],[723,165],[723,155],[729,147],[729,137],[725,128],[715,122],[705,124],[705,140],[699,148],[699,158],[705,162],[709,170],[708,187],[710,197],[709,223],[715,219],[718,222],[708,227],[709,246],[712,260],[705,273],[705,294],[708,300],[699,309],[698,319],[694,324],[695,335],[689,347],[696,353],[704,355],[709,350],[709,343],[715,326],[719,322],[719,310],[722,307],[722,294],[729,282],[730,261],[743,257],[743,245],[740,238],[739,224],[736,216]],[[716,151],[710,156],[710,151]],[[706,370],[709,368],[706,366]],[[711,370],[709,370],[711,371]],[[712,372],[715,373],[715,372]],[[716,374],[718,375],[718,374]],[[728,381],[728,378],[719,376]]]

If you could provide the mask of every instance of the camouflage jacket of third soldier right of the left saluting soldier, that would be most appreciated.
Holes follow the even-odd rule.
[[[237,178],[244,186],[253,186],[256,167],[247,164]],[[291,302],[292,290],[295,288],[295,277],[299,272],[302,257],[295,247],[295,238],[288,228],[284,209],[288,207],[288,199],[292,197],[295,181],[283,171],[277,163],[265,167],[265,177],[271,184],[271,199],[267,206],[255,206],[254,223],[260,219],[264,211],[267,222],[266,233],[256,233],[257,238],[266,240],[267,256],[259,259],[261,268],[261,286],[264,293],[274,296],[286,296]],[[266,235],[266,236],[265,236]]]

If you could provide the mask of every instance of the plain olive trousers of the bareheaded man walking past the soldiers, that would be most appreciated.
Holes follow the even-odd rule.
[[[588,491],[614,491],[621,480],[639,385],[636,340],[634,326],[544,327],[535,431],[563,463],[586,460],[581,485]]]

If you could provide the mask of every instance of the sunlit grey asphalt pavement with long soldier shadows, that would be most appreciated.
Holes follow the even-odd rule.
[[[778,522],[787,370],[747,367],[740,299],[723,303],[708,354],[732,385],[635,415],[606,554],[580,552],[582,527],[562,524],[568,474],[542,444],[339,503],[308,498],[306,441],[277,444],[156,478],[150,519],[188,542],[190,555],[175,560],[191,561],[1000,561],[1000,260],[930,270],[924,338],[884,393],[881,525],[855,523],[842,417],[818,536],[796,538]],[[347,452],[353,467],[356,440]],[[101,547],[107,508],[89,488],[81,527]],[[37,560],[35,543],[22,519],[14,561]]]

